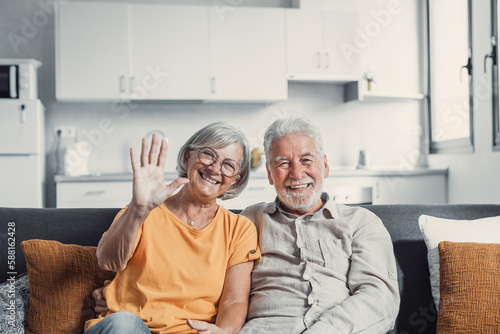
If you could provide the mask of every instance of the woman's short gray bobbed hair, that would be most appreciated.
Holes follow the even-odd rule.
[[[177,173],[180,177],[187,177],[185,159],[187,152],[202,147],[223,148],[234,143],[239,144],[243,149],[243,157],[239,162],[240,171],[237,176],[238,182],[229,187],[229,189],[219,196],[219,198],[230,199],[238,196],[248,183],[250,172],[250,148],[243,132],[224,122],[209,124],[203,129],[198,130],[187,140],[177,155]]]

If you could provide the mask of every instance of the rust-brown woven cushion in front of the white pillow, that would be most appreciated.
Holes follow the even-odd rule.
[[[439,244],[437,333],[500,333],[500,244]]]

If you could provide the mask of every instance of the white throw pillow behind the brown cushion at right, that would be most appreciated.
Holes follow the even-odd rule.
[[[441,241],[500,243],[500,216],[476,220],[452,220],[422,215],[418,225],[427,245],[431,291],[439,308],[439,250]]]

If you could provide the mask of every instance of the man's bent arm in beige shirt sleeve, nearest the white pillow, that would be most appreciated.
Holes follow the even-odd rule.
[[[351,295],[304,333],[386,333],[394,326],[400,301],[396,261],[378,218],[353,235],[347,284]]]

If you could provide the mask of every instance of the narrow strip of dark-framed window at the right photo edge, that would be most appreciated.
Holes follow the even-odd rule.
[[[499,108],[499,94],[498,94],[498,52],[497,52],[497,41],[499,31],[498,29],[498,17],[500,15],[500,8],[498,6],[498,0],[491,1],[491,53],[486,55],[484,58],[484,70],[486,71],[486,61],[488,58],[491,58],[491,75],[492,80],[491,83],[493,85],[493,150],[500,151],[500,108]]]

